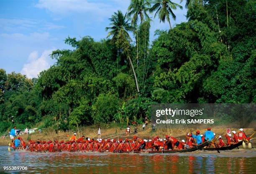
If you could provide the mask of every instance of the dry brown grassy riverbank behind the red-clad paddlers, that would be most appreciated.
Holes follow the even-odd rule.
[[[142,125],[141,125],[142,127]],[[148,125],[148,127],[145,128],[145,130],[143,130],[142,128],[140,128],[140,125],[137,128],[138,133],[134,133],[134,128],[131,127],[131,133],[127,134],[125,133],[126,128],[120,128],[120,127],[103,127],[101,128],[101,138],[103,139],[118,139],[118,138],[133,138],[134,135],[141,137],[143,139],[150,139],[150,137],[152,136],[159,136],[160,138],[164,138],[164,136],[166,134],[168,135],[172,135],[176,138],[178,138],[179,140],[185,139],[184,135],[187,132],[194,132],[196,130],[200,130],[200,134],[204,134],[206,129],[205,128],[161,128],[161,129],[156,129],[155,131],[152,131],[151,129],[151,125]],[[238,132],[238,129],[230,129],[230,130],[235,130],[236,132]],[[212,131],[216,134],[216,135],[221,135],[223,136],[223,141],[226,142],[226,138],[224,137],[225,133],[226,133],[226,129],[225,128],[220,128],[220,127],[212,127]],[[248,128],[244,130],[247,136],[251,136],[251,134],[254,132],[253,128]],[[98,127],[92,125],[92,126],[87,126],[87,127],[82,127],[79,128],[77,131],[75,131],[77,133],[77,137],[81,137],[81,136],[85,136],[85,137],[89,137],[89,138],[94,138],[97,139],[98,135]],[[23,140],[25,140],[26,142],[31,139],[31,140],[41,140],[41,141],[53,141],[53,140],[64,140],[67,141],[69,140],[70,136],[72,136],[74,133],[74,131],[59,131],[59,132],[55,132],[52,128],[47,128],[45,129],[42,133],[32,133],[32,134],[24,134],[24,135],[20,135],[21,138],[23,138]],[[195,132],[194,132],[195,133]],[[8,142],[10,142],[10,138],[7,137],[6,140]],[[252,144],[255,144],[254,142]],[[5,138],[0,138],[0,145],[6,145],[6,141]]]

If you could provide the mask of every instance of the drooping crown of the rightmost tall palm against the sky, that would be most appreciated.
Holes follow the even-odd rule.
[[[172,18],[176,20],[176,15],[173,13],[173,10],[176,10],[177,7],[182,9],[182,6],[172,2],[171,0],[154,0],[154,5],[152,8],[149,9],[149,11],[152,13],[156,11],[154,18],[156,18],[156,15],[158,15],[160,22],[165,22],[167,20],[169,22],[170,28],[171,22],[170,22],[170,15],[172,15]]]

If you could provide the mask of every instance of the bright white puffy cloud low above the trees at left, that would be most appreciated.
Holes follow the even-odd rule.
[[[28,56],[28,63],[23,65],[21,74],[25,74],[28,78],[38,77],[38,74],[48,69],[52,62],[49,54],[54,49],[44,50],[40,57],[38,57],[38,51],[33,51]]]

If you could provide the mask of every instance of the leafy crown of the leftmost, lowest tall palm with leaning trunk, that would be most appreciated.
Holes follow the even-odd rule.
[[[129,19],[126,19],[126,13],[123,15],[123,13],[118,10],[118,12],[114,13],[109,20],[111,21],[110,26],[106,27],[106,31],[110,30],[108,32],[108,37],[112,36],[112,39],[116,39],[118,34],[122,34],[131,41],[131,37],[128,33],[128,31],[134,31],[134,27],[129,22]]]

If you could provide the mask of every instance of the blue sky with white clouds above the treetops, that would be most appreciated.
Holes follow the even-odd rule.
[[[0,0],[0,68],[6,73],[38,77],[55,63],[49,57],[51,51],[72,49],[64,44],[65,38],[106,38],[109,18],[117,10],[126,13],[129,3],[130,0]],[[181,5],[182,10],[174,10],[176,20],[171,20],[172,26],[186,21],[184,1]],[[153,41],[154,31],[168,30],[169,23],[160,23],[154,14],[149,16],[153,20]]]

